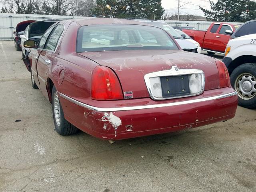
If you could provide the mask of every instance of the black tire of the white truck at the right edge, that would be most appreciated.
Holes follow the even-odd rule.
[[[256,108],[256,92],[252,92],[253,94],[248,95],[248,98],[246,98],[242,95],[242,92],[239,91],[238,81],[242,76],[246,77],[246,74],[252,76],[252,78],[250,78],[252,82],[256,82],[256,63],[246,63],[235,68],[230,75],[230,82],[231,86],[238,92],[238,105],[252,109]],[[254,89],[255,88],[256,85],[254,85]]]

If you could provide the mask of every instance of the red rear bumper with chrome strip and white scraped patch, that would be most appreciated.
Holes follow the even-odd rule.
[[[207,97],[191,97],[190,100],[114,108],[89,106],[62,93],[59,95],[62,106],[65,106],[64,116],[69,122],[97,138],[121,140],[185,130],[233,118],[238,102],[236,92],[232,88],[218,90],[215,93],[213,90],[205,91],[209,92]]]

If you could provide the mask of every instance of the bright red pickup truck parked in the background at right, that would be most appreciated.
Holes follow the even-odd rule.
[[[183,29],[193,40],[197,41],[208,54],[224,54],[230,34],[239,26],[224,22],[213,22],[207,31]]]

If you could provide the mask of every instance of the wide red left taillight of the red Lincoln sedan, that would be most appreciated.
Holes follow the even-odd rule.
[[[108,67],[97,66],[92,72],[91,98],[94,100],[123,99],[116,74]]]

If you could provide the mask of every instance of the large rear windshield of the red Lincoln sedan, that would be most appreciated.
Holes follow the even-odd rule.
[[[152,26],[102,24],[82,26],[78,31],[77,52],[117,50],[178,50],[164,30]]]

